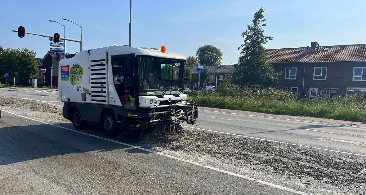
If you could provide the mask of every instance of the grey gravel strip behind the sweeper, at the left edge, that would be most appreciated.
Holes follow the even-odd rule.
[[[47,102],[0,96],[0,106],[20,110],[31,110],[62,114],[62,107]]]

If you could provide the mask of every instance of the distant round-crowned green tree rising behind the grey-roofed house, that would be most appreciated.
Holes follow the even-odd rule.
[[[198,47],[196,56],[199,63],[204,64],[205,66],[219,66],[223,59],[223,52],[215,46],[204,45]]]

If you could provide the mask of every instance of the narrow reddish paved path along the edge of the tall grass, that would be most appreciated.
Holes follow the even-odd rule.
[[[278,118],[278,119],[293,120],[293,121],[304,121],[304,122],[313,122],[313,123],[324,123],[324,124],[330,124],[330,125],[342,125],[342,126],[366,128],[366,123],[361,123],[361,122],[340,121],[340,120],[334,120],[334,119],[313,118],[313,117],[307,117],[307,116],[276,115],[276,114],[266,114],[266,113],[260,113],[260,112],[249,112],[249,111],[241,111],[241,110],[226,110],[226,109],[221,109],[221,108],[198,107],[198,109],[214,111],[214,112],[231,113],[231,114],[259,116],[259,117],[266,117],[266,118]]]

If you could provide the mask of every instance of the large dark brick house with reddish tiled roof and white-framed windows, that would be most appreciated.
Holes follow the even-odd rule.
[[[266,57],[277,72],[280,86],[306,96],[366,95],[366,44],[267,49]],[[363,74],[365,73],[365,75]]]

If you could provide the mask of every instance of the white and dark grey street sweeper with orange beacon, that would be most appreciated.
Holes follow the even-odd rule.
[[[63,117],[76,129],[100,125],[125,141],[144,132],[183,132],[180,123],[198,117],[197,104],[184,94],[186,61],[165,46],[109,46],[60,60]]]

